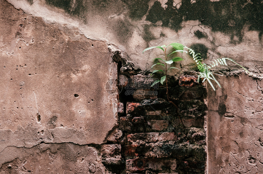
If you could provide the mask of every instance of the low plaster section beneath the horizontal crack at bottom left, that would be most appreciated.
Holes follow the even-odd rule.
[[[0,163],[0,173],[106,172],[94,147],[73,143],[43,143],[31,148],[10,146],[2,152]]]

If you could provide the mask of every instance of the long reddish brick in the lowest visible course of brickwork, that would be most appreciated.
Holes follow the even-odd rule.
[[[126,169],[131,172],[163,170],[163,168],[176,170],[176,166],[176,159],[137,158],[126,160]]]

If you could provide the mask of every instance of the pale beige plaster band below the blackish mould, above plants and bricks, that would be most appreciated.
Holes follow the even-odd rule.
[[[259,37],[259,31],[250,30],[249,24],[244,24],[240,29],[242,35],[240,40],[233,32],[213,31],[213,28],[199,20],[184,20],[176,26],[180,28],[178,31],[172,29],[169,25],[164,27],[161,20],[151,23],[147,16],[157,0],[133,2],[138,3],[138,6],[141,5],[140,3],[143,3],[147,7],[147,10],[144,10],[145,12],[135,12],[135,16],[137,13],[145,13],[140,19],[136,18],[136,20],[132,19],[134,16],[130,15],[133,10],[133,7],[130,6],[132,1],[69,1],[68,8],[66,4],[61,5],[58,1],[8,0],[8,2],[14,5],[15,8],[22,9],[32,16],[40,16],[47,21],[78,27],[87,38],[103,40],[108,44],[118,45],[121,51],[128,54],[129,60],[135,64],[135,67],[143,71],[151,70],[151,60],[153,58],[162,57],[162,52],[154,49],[142,54],[145,48],[179,42],[187,47],[197,43],[204,44],[209,49],[208,52],[213,53],[210,54],[209,59],[206,60],[207,62],[218,57],[232,58],[241,64],[245,63],[246,67],[249,67],[252,72],[262,76],[260,70],[262,69],[260,55],[263,54],[261,37]],[[211,3],[216,2],[212,1]],[[165,10],[170,0],[159,0],[159,3],[161,6],[160,10]],[[188,2],[185,1],[185,3]],[[196,1],[191,1],[193,5],[196,3]],[[178,11],[181,4],[182,1],[173,1],[172,8]],[[136,8],[138,7],[136,6]],[[184,18],[186,17],[183,16]],[[169,21],[169,19],[167,20]],[[176,21],[176,19],[173,20]],[[231,26],[236,27],[234,24],[229,25],[230,28]],[[202,34],[203,37],[198,38],[196,32]],[[11,54],[12,51],[9,53]],[[194,69],[195,62],[190,56],[186,54],[180,54],[180,56],[183,57],[184,61],[177,63],[176,67]],[[172,71],[171,75],[175,73],[177,71]]]

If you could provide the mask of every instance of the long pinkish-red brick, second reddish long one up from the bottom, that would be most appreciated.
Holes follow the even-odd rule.
[[[176,141],[177,137],[174,132],[150,132],[150,133],[134,133],[127,135],[128,141],[143,140],[146,142],[157,142],[157,141]]]

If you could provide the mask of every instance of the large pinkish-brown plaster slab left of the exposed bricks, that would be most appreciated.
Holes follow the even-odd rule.
[[[40,143],[104,143],[117,125],[118,94],[107,44],[6,1],[0,8],[0,164]]]

